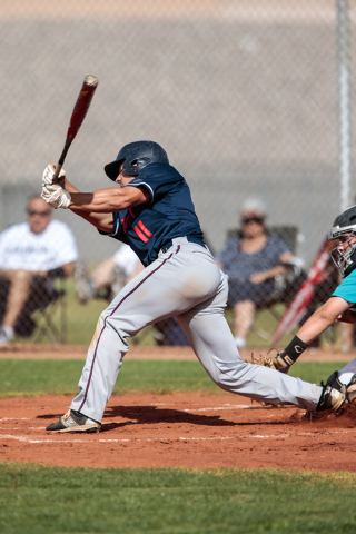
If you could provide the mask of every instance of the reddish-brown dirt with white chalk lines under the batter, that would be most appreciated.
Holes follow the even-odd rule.
[[[231,394],[113,396],[99,434],[49,434],[68,396],[0,399],[0,462],[356,472],[356,409],[324,422]]]

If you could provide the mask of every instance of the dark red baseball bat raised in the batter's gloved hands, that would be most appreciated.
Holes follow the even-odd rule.
[[[70,117],[70,122],[69,122],[69,128],[67,131],[67,138],[66,138],[66,144],[63,151],[58,160],[58,164],[56,166],[55,175],[52,178],[52,182],[56,184],[58,181],[58,176],[60,172],[60,169],[63,166],[67,152],[69,150],[69,147],[75,139],[75,137],[78,134],[79,128],[81,127],[82,121],[85,120],[85,117],[87,115],[87,111],[89,109],[91,99],[93,97],[95,90],[97,89],[98,86],[98,78],[96,76],[87,76],[85,78],[85,81],[81,86],[79,96],[76,101],[75,109],[71,113]]]

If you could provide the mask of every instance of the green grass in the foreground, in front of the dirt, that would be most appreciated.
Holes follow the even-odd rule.
[[[3,534],[354,533],[356,477],[0,464]]]

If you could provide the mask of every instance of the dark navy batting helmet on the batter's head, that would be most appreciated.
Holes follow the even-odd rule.
[[[120,164],[122,170],[130,176],[137,176],[148,164],[169,164],[166,150],[154,141],[135,141],[121,148],[115,161],[105,166],[105,171],[111,180],[116,180]]]

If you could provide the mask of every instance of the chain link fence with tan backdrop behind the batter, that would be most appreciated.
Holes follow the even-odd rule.
[[[102,168],[119,148],[152,139],[190,185],[214,254],[253,198],[306,273],[355,202],[355,0],[2,0],[0,230],[26,220],[92,73],[99,86],[65,165],[81,190],[109,187]],[[89,270],[117,251],[73,214],[56,218]],[[286,299],[274,283],[290,301],[296,287]],[[155,335],[168,343],[164,325]]]

